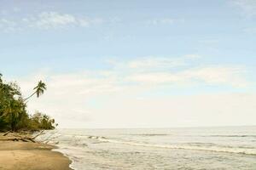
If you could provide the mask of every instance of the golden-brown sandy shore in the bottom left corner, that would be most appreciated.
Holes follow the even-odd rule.
[[[32,142],[0,141],[0,170],[71,170],[71,161],[54,146]]]

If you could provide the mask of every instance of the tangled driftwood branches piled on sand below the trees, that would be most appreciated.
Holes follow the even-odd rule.
[[[0,138],[0,141],[7,141],[7,140],[11,140],[11,141],[22,141],[22,142],[32,142],[32,143],[36,143],[36,138],[38,138],[38,136],[44,134],[44,131],[41,131],[40,133],[38,133],[36,136],[32,136],[31,134],[22,134],[22,133],[11,133],[11,132],[7,132],[4,133],[3,136],[5,136],[4,138]]]

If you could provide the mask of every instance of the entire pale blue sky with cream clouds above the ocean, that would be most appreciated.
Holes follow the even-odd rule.
[[[0,72],[60,127],[256,125],[255,0],[0,0]]]

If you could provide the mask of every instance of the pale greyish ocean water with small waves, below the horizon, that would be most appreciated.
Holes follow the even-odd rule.
[[[56,129],[76,170],[256,170],[256,127]]]

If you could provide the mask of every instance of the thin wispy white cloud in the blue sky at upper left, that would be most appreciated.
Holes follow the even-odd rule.
[[[3,31],[20,31],[28,28],[41,30],[63,29],[69,27],[88,27],[100,25],[104,22],[101,18],[76,16],[58,12],[42,12],[25,17],[0,18],[0,29]]]

